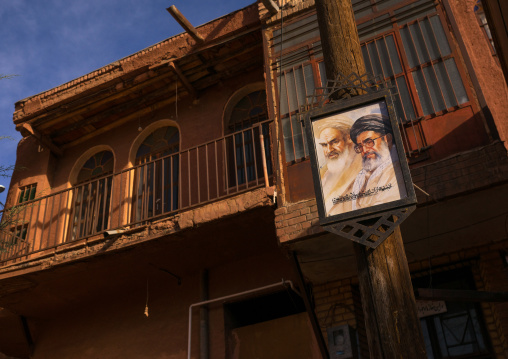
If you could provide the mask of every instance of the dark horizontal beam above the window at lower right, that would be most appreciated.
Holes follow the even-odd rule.
[[[508,302],[508,292],[482,292],[461,289],[418,288],[416,298],[450,302]]]

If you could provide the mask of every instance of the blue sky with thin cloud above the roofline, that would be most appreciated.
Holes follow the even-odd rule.
[[[255,0],[3,0],[0,6],[0,164],[13,165],[21,139],[14,103],[183,32],[175,5],[198,26]],[[8,186],[9,178],[0,178]],[[5,201],[5,193],[0,201]]]

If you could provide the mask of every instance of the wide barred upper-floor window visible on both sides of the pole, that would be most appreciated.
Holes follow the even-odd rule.
[[[401,0],[355,0],[353,9],[357,19],[367,19],[358,25],[366,70],[397,92],[394,105],[401,123],[469,104],[456,54],[433,1],[416,0],[404,5]],[[373,17],[376,13],[379,15]],[[287,163],[309,154],[300,108],[307,96],[326,83],[317,26],[317,18],[312,15],[273,34]],[[297,41],[299,35],[301,42]]]

